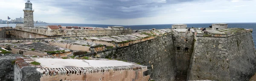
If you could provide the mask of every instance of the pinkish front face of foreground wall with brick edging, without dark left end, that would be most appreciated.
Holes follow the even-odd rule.
[[[43,73],[41,81],[148,81],[143,75],[145,66],[82,67],[82,68],[38,68]]]

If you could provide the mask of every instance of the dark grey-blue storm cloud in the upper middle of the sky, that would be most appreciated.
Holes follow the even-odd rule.
[[[87,20],[152,17],[168,5],[193,0],[33,0],[42,6],[55,6],[61,13],[73,13]]]

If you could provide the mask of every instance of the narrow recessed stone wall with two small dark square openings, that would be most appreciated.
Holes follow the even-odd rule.
[[[187,77],[187,70],[189,67],[189,60],[193,52],[194,35],[190,31],[177,32],[173,31],[173,53],[175,55],[175,64],[177,67],[176,80],[185,81]]]

